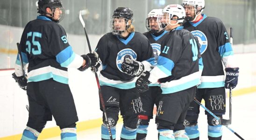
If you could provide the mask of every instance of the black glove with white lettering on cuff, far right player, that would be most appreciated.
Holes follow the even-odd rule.
[[[225,88],[229,89],[231,87],[232,89],[234,89],[238,82],[239,68],[226,68],[225,70],[226,70]]]

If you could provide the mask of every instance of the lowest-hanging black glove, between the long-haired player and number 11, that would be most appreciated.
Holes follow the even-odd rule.
[[[135,89],[138,92],[145,92],[149,90],[149,84],[151,83],[149,81],[150,73],[149,71],[145,71],[142,73],[142,75],[137,79],[135,83]]]

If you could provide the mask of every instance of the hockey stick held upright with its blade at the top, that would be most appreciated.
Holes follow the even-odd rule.
[[[85,29],[85,21],[82,18],[81,11],[79,11],[79,20],[80,20],[80,22],[82,23],[82,25]],[[88,35],[87,35],[87,32],[86,32],[86,29],[85,29],[85,36],[86,36],[86,40],[87,40],[87,43],[88,43],[89,51],[90,51],[90,53],[92,53],[92,49],[91,49],[91,45],[90,45],[90,41],[89,41],[89,38],[88,38]],[[97,71],[96,71],[94,66],[92,66],[92,70],[94,71],[94,74],[95,74],[95,77],[96,77],[96,81],[97,81],[97,85],[98,85],[98,89],[99,89],[100,103],[102,105],[102,110],[103,110],[103,113],[104,113],[104,116],[105,116],[105,121],[107,123],[107,130],[108,130],[108,133],[109,133],[109,137],[110,137],[110,140],[113,140],[111,129],[110,129],[110,126],[109,126],[109,122],[107,120],[107,112],[106,112],[106,108],[105,108],[105,103],[104,103],[102,93],[101,93],[101,89],[100,89],[99,77],[98,77]]]

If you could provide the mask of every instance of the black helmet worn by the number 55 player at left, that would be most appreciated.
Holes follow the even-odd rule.
[[[46,13],[46,8],[49,7],[51,11],[53,12],[53,15]],[[53,20],[55,22],[59,22],[64,18],[64,7],[62,6],[61,0],[38,0],[38,12],[39,14],[43,15],[50,15],[54,17],[54,10],[56,7],[61,8],[62,15],[58,20]]]

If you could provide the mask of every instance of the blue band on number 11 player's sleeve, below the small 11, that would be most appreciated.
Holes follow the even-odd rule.
[[[174,67],[174,63],[171,59],[168,59],[164,56],[158,56],[156,67],[158,67],[160,70],[164,71],[164,73],[167,74],[168,76],[171,76],[171,70]],[[163,68],[165,68],[165,69],[163,69]]]

